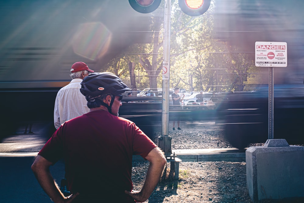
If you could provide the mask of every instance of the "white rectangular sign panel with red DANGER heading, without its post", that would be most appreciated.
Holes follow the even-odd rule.
[[[255,42],[255,66],[287,67],[287,43]]]

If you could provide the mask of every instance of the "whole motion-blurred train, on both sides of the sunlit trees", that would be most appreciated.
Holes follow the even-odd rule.
[[[274,70],[274,83],[281,87],[274,93],[274,138],[301,144],[304,1],[212,3],[214,37],[239,47],[253,59],[256,41],[287,43],[288,66]],[[57,91],[71,80],[69,69],[74,62],[84,61],[100,71],[130,44],[151,40],[150,14],[134,11],[126,0],[11,0],[2,1],[0,11],[0,138],[14,133],[18,122],[49,121],[50,131],[54,130],[54,100]],[[153,112],[152,105],[140,108],[147,114]],[[131,106],[123,105],[121,115],[135,118],[126,109]],[[238,148],[266,141],[267,112],[268,97],[263,91],[229,94],[218,108],[219,118],[225,119],[227,139]]]

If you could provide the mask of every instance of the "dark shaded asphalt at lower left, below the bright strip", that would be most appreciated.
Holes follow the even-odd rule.
[[[52,202],[36,180],[31,165],[35,157],[0,156],[0,197],[3,203]],[[55,181],[64,177],[64,163],[50,167]]]

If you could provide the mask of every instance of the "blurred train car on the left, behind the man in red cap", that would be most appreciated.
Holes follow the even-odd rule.
[[[150,16],[128,1],[1,1],[0,138],[19,122],[48,121],[54,130],[55,97],[71,65],[98,72],[130,44],[150,42]]]

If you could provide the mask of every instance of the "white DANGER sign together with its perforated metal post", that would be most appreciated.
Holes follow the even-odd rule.
[[[255,66],[269,68],[268,139],[273,136],[273,67],[287,67],[286,42],[255,42]]]

